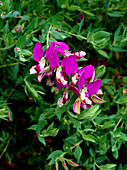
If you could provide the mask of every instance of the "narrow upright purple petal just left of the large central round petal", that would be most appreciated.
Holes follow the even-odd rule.
[[[54,51],[54,53],[52,54],[52,58],[50,61],[50,67],[51,70],[53,71],[54,68],[59,66],[59,57],[56,51]]]

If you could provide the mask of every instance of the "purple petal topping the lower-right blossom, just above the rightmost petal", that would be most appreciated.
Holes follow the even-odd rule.
[[[94,66],[87,65],[86,67],[81,68],[79,70],[79,75],[81,75],[83,71],[85,72],[85,79],[88,79],[94,74]]]

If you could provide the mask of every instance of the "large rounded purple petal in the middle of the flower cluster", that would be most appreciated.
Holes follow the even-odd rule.
[[[63,68],[63,72],[65,72],[68,76],[70,76],[71,74],[75,74],[78,70],[76,56],[70,55],[64,58],[61,61],[61,67]]]

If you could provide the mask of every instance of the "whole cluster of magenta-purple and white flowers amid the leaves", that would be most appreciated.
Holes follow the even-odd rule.
[[[105,102],[98,97],[102,94],[100,90],[102,81],[101,79],[95,79],[94,66],[87,65],[78,69],[77,60],[85,55],[84,51],[70,52],[66,43],[50,42],[43,56],[41,43],[38,41],[33,50],[33,58],[39,63],[30,69],[30,74],[37,74],[39,82],[47,75],[48,85],[53,85],[51,78],[55,73],[56,86],[59,89],[65,88],[63,97],[58,99],[57,104],[60,107],[65,104],[69,100],[69,92],[72,91],[77,95],[77,99],[73,104],[73,111],[77,114],[80,114],[81,107],[86,109],[93,106],[94,103],[101,104]]]

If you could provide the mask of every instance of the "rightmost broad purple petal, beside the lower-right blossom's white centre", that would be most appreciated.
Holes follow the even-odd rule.
[[[88,94],[89,95],[95,94],[101,87],[101,83],[102,83],[102,81],[101,81],[101,79],[99,79],[99,80],[96,80],[94,82],[87,84],[86,88],[87,88]]]

